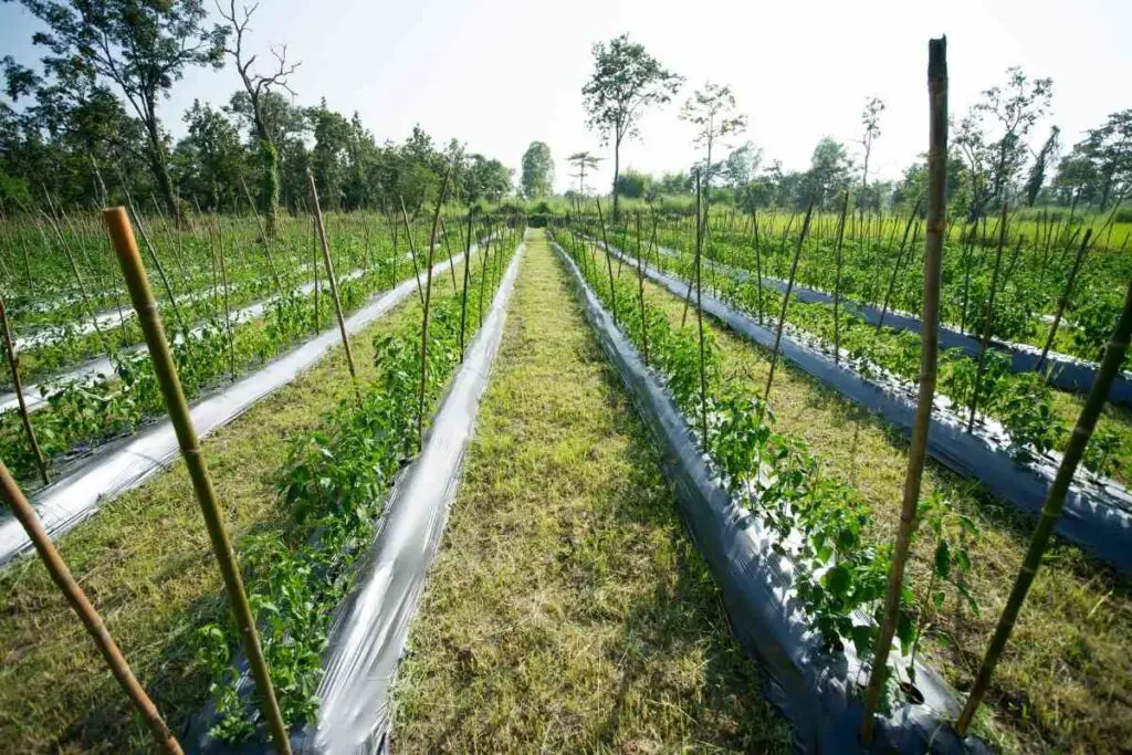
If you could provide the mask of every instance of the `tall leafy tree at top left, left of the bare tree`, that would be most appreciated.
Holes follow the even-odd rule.
[[[44,68],[65,77],[88,70],[121,89],[145,127],[149,169],[165,207],[179,216],[169,174],[165,135],[157,100],[166,95],[187,68],[222,62],[224,31],[205,28],[201,0],[20,0],[48,25],[32,42],[50,54]]]

